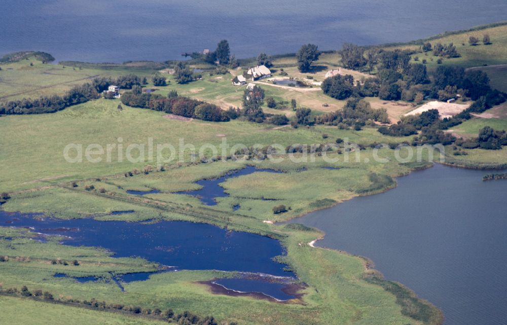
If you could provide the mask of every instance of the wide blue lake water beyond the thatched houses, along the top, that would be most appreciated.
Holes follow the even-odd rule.
[[[180,59],[227,39],[237,57],[410,41],[504,20],[505,0],[3,0],[0,53],[46,51],[57,60]],[[256,17],[256,18],[252,18]]]

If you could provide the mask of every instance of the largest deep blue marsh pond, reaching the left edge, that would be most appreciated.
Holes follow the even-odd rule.
[[[284,265],[271,260],[283,254],[277,240],[227,231],[207,224],[37,220],[30,215],[4,211],[0,211],[0,224],[31,227],[33,232],[69,236],[71,238],[63,241],[66,245],[100,246],[115,252],[115,257],[139,256],[177,269],[293,275],[283,271]]]

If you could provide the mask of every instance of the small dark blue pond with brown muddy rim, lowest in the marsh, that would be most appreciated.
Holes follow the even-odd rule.
[[[287,294],[283,291],[286,287],[286,284],[283,283],[272,283],[264,280],[243,278],[226,278],[213,282],[222,285],[226,289],[231,289],[240,293],[258,292],[277,300],[296,298],[296,296]]]

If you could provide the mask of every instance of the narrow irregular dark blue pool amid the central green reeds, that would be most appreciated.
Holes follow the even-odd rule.
[[[221,183],[224,183],[229,178],[249,175],[255,172],[280,173],[281,171],[273,169],[257,169],[253,166],[246,166],[243,169],[231,171],[230,173],[227,173],[226,175],[219,178],[198,180],[195,184],[202,186],[201,189],[194,191],[177,192],[176,194],[197,196],[201,202],[206,205],[216,205],[216,198],[229,196],[229,194],[225,192],[224,188],[220,186]]]

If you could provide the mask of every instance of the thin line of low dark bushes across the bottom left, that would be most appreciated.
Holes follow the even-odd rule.
[[[175,314],[171,308],[162,311],[159,308],[142,308],[139,306],[126,306],[118,303],[106,303],[105,301],[98,301],[92,298],[90,301],[78,299],[55,299],[54,295],[50,292],[43,292],[42,290],[33,290],[30,292],[26,285],[18,290],[16,287],[4,289],[0,286],[0,294],[18,297],[29,297],[36,300],[45,300],[52,303],[59,303],[64,305],[81,306],[93,309],[108,309],[117,312],[123,312],[133,315],[144,315],[154,319],[161,319],[166,321],[175,321],[178,324],[185,325],[218,325],[218,322],[211,316],[201,317],[193,314],[189,311],[185,311],[182,314]],[[232,324],[231,324],[232,325]]]

